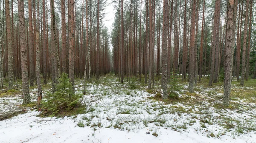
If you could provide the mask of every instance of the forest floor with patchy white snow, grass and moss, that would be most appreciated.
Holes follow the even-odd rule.
[[[256,143],[256,80],[233,81],[230,106],[223,107],[222,82],[208,87],[203,77],[189,93],[178,78],[179,98],[163,101],[157,79],[153,90],[144,79],[120,84],[113,73],[92,80],[81,99],[86,108],[69,117],[38,116],[36,87],[29,106],[21,105],[20,90],[2,90],[0,143]],[[43,98],[50,87],[43,86]],[[82,94],[81,79],[75,90]]]

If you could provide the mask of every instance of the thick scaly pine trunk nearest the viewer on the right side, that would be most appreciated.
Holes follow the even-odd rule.
[[[224,106],[229,106],[229,98],[231,91],[231,68],[232,68],[232,29],[233,29],[233,9],[234,9],[234,0],[229,0],[228,5],[228,14],[227,14],[227,37],[226,37],[226,48],[225,48],[225,66],[224,66],[224,97],[223,104]]]

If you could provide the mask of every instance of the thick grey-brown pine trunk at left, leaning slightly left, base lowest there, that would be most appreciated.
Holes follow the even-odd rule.
[[[18,0],[19,11],[19,30],[20,30],[20,54],[21,54],[21,70],[22,70],[22,91],[23,91],[23,103],[30,103],[29,95],[29,74],[28,74],[28,62],[27,62],[27,49],[26,49],[26,32],[25,32],[25,18],[24,18],[24,1]]]

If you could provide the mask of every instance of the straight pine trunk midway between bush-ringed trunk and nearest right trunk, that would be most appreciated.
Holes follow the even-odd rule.
[[[190,48],[189,48],[189,92],[194,92],[194,78],[195,78],[195,11],[196,0],[192,0],[192,19],[191,19],[191,33],[190,33]]]

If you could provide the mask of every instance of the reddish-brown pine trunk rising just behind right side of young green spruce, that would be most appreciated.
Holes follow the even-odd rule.
[[[68,1],[69,5],[69,78],[72,83],[73,92],[75,92],[75,74],[74,74],[74,0]]]

